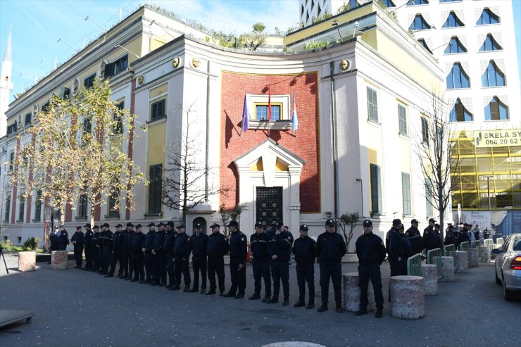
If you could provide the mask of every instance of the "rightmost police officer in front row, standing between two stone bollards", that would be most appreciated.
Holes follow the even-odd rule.
[[[384,241],[372,233],[370,220],[363,221],[363,234],[356,240],[356,255],[358,256],[358,283],[360,286],[360,310],[356,315],[368,313],[368,284],[371,280],[376,301],[375,317],[380,318],[384,308],[380,265],[385,259],[386,252]]]

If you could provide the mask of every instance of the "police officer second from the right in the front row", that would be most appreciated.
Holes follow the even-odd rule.
[[[317,255],[320,263],[320,288],[322,289],[322,305],[318,312],[327,310],[329,297],[329,278],[333,282],[334,301],[338,313],[342,313],[342,257],[346,254],[344,237],[335,230],[334,220],[326,220],[325,232],[317,239]]]

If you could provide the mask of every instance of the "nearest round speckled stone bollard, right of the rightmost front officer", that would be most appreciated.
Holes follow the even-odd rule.
[[[393,276],[391,287],[391,316],[406,320],[425,317],[423,277]]]

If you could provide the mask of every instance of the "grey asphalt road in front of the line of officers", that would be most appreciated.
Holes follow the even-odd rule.
[[[373,313],[356,317],[329,310],[282,307],[198,293],[168,291],[92,272],[52,271],[38,263],[34,272],[16,272],[17,258],[6,254],[10,275],[0,263],[0,309],[34,310],[32,323],[0,329],[0,346],[263,346],[280,341],[308,341],[324,346],[520,346],[521,300],[507,302],[494,281],[494,264],[480,263],[456,282],[439,283],[426,296],[425,318],[399,320]],[[344,264],[344,272],[356,271]],[[227,270],[228,271],[228,270]],[[382,265],[384,294],[389,265]],[[226,284],[230,286],[227,272]],[[253,291],[247,268],[246,296]],[[318,265],[316,302],[320,303]],[[290,301],[298,297],[290,268]],[[384,295],[385,296],[385,295]],[[282,301],[281,301],[282,302]],[[318,305],[317,305],[318,307]]]

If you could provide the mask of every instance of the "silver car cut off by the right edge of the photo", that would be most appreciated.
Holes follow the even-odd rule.
[[[503,297],[510,301],[521,291],[521,234],[511,234],[496,254],[496,283],[503,284]]]

